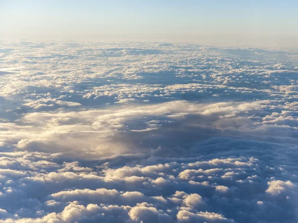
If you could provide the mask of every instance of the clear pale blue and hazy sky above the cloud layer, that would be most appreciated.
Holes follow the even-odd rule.
[[[0,39],[293,47],[295,0],[0,0]]]

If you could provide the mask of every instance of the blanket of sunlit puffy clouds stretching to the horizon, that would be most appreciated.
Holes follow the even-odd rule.
[[[298,54],[0,42],[0,223],[297,223]]]

